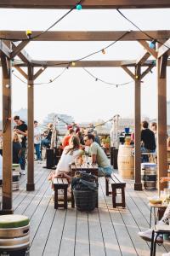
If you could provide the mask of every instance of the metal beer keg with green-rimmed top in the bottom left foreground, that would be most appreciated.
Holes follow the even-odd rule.
[[[0,255],[29,256],[30,220],[23,215],[0,216]]]

